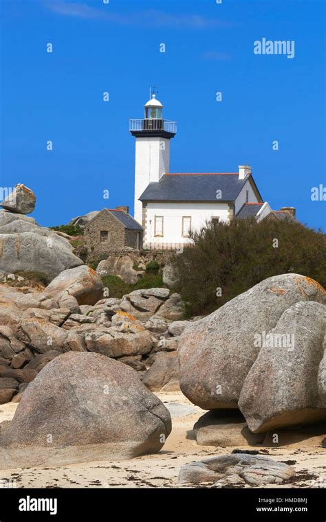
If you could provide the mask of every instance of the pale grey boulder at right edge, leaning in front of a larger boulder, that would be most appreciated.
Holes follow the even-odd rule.
[[[325,328],[323,304],[298,302],[270,330],[239,397],[251,431],[326,420],[325,394],[318,392]]]

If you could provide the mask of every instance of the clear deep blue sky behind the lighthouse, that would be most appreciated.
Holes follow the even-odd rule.
[[[32,188],[42,225],[132,209],[129,118],[155,84],[178,124],[171,172],[249,163],[274,209],[324,228],[324,16],[322,0],[1,0],[1,186]],[[263,37],[294,58],[255,55]]]

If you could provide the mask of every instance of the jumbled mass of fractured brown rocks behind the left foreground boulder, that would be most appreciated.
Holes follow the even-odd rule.
[[[30,374],[34,377],[59,354],[95,352],[131,366],[142,378],[164,352],[146,379],[157,389],[178,389],[179,336],[173,333],[184,328],[182,321],[170,333],[169,319],[148,317],[168,300],[169,290],[149,288],[122,299],[98,297],[102,283],[87,266],[64,271],[43,292],[23,293],[0,284],[0,367],[3,361],[5,370],[36,370]],[[96,303],[79,305],[77,299]],[[18,402],[23,389],[6,389],[11,391],[3,391],[3,400]]]

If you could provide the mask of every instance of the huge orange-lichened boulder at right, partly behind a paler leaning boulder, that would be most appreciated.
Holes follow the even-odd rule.
[[[276,275],[196,321],[179,341],[183,393],[203,409],[237,408],[261,348],[259,339],[287,308],[297,302],[323,302],[324,297],[323,288],[309,277]]]

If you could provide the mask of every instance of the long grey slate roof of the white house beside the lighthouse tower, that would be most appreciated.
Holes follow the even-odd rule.
[[[239,179],[238,173],[163,174],[157,183],[149,183],[140,201],[235,201],[247,179]]]

